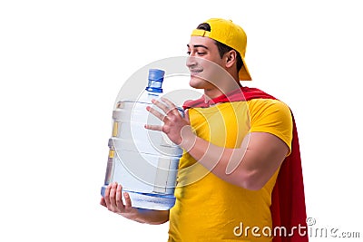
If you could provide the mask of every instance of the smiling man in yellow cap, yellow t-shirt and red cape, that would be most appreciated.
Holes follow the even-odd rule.
[[[295,123],[285,103],[240,85],[251,80],[246,43],[242,28],[231,21],[200,24],[187,45],[187,66],[191,87],[204,95],[184,103],[184,118],[167,99],[153,101],[164,113],[148,107],[163,124],[145,128],[163,131],[186,151],[175,206],[132,208],[127,193],[123,204],[120,184],[106,189],[103,206],[143,223],[169,220],[169,241],[307,241],[300,233],[306,215]],[[294,162],[287,162],[289,156]]]

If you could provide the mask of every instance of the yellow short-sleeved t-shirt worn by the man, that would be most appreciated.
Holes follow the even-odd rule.
[[[291,148],[291,113],[280,101],[225,102],[193,108],[189,117],[199,137],[221,147],[239,148],[247,133],[269,132]],[[271,192],[278,172],[260,190],[243,189],[218,178],[185,152],[170,212],[169,242],[271,241]]]

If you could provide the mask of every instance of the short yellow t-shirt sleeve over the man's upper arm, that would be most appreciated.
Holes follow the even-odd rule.
[[[268,132],[283,140],[291,150],[292,116],[284,102],[270,99],[250,101],[250,132]]]

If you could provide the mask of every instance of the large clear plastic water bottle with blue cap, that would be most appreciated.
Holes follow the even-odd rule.
[[[117,181],[130,194],[134,208],[167,210],[175,204],[173,193],[182,149],[161,131],[144,128],[146,123],[162,124],[146,107],[162,95],[163,77],[162,70],[150,69],[142,95],[137,100],[118,101],[113,110],[113,133],[101,194]]]

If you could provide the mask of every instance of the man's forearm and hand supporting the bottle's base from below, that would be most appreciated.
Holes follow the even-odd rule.
[[[131,198],[127,192],[123,192],[125,199],[123,204],[122,190],[121,184],[116,182],[110,184],[105,190],[100,204],[110,211],[122,215],[124,218],[129,218],[139,223],[158,225],[169,220],[169,210],[132,208]]]

